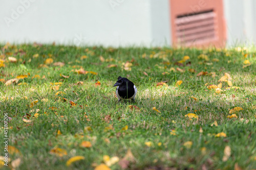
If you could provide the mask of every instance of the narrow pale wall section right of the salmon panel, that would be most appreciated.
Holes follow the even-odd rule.
[[[224,0],[227,44],[256,45],[256,1]]]

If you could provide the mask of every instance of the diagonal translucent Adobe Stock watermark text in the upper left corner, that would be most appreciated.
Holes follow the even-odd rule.
[[[34,3],[36,0],[20,0],[20,5],[16,9],[11,9],[11,16],[5,16],[4,20],[8,27],[10,27],[10,24],[15,22],[20,15],[22,15],[26,9],[28,9],[31,6],[31,3]]]

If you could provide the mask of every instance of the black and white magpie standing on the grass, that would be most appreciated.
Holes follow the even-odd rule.
[[[133,82],[119,76],[117,78],[117,82],[114,84],[114,87],[115,86],[117,86],[116,96],[118,98],[118,102],[120,102],[121,99],[132,99],[132,101],[135,102],[137,88]]]

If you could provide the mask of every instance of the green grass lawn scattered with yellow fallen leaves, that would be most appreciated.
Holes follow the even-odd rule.
[[[256,169],[255,50],[0,47],[0,168]]]

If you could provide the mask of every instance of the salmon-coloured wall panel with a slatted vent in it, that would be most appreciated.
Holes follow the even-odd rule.
[[[222,0],[170,0],[173,45],[224,47]]]

